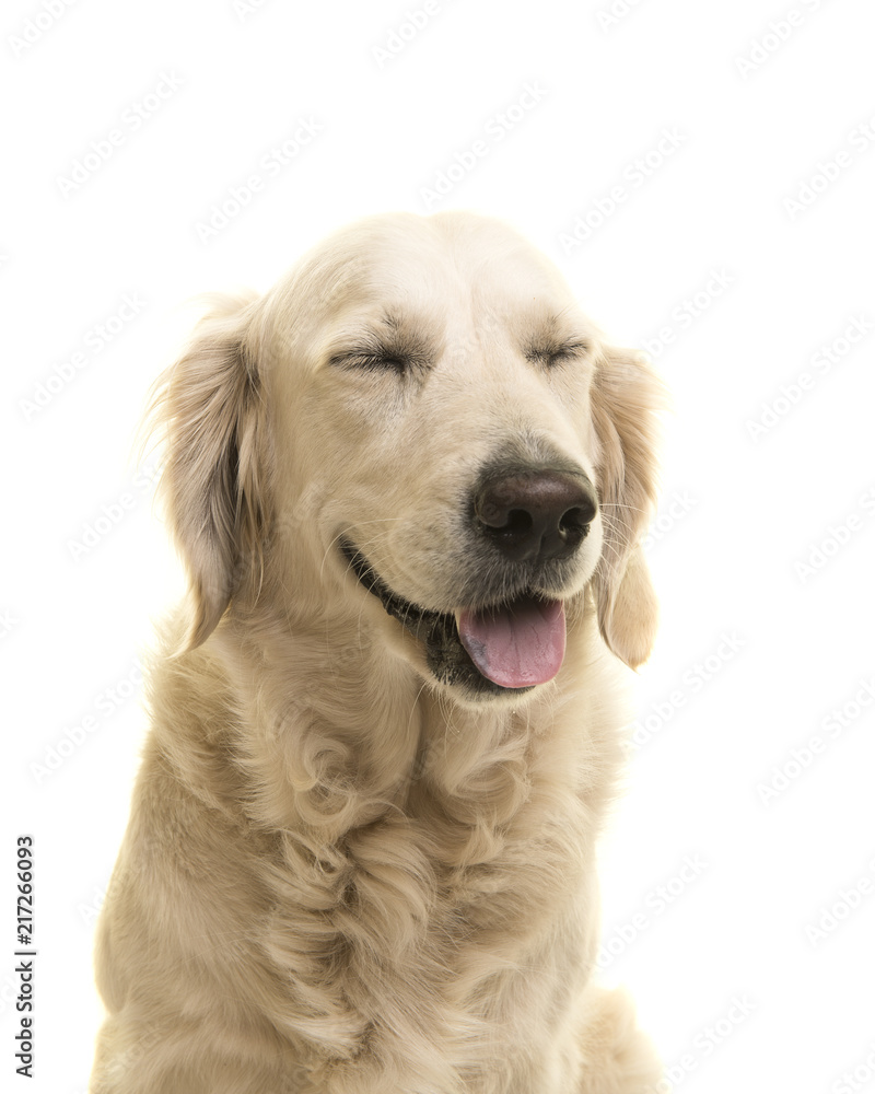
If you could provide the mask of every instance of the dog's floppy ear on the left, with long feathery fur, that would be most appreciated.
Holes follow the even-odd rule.
[[[209,637],[260,558],[266,422],[258,369],[244,342],[254,299],[210,298],[210,312],[151,405],[166,444],[161,492],[194,604],[180,652]]]

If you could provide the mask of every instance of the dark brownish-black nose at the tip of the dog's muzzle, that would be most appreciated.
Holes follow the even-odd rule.
[[[590,479],[569,472],[492,477],[474,499],[479,531],[515,562],[569,557],[590,531],[597,509]]]

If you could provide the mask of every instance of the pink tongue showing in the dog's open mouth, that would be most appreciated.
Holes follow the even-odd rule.
[[[565,609],[561,601],[521,596],[495,610],[462,612],[458,637],[493,684],[546,684],[559,672],[565,653]]]

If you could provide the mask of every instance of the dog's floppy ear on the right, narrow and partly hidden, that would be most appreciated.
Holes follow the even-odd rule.
[[[648,660],[656,637],[658,603],[640,538],[656,501],[656,415],[665,405],[641,354],[603,349],[592,408],[605,539],[592,583],[602,637],[630,668]]]

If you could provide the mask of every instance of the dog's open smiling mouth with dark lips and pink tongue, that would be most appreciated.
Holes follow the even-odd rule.
[[[442,684],[520,693],[559,672],[565,652],[561,601],[527,591],[477,612],[430,612],[393,592],[352,544],[340,546],[362,585],[423,643],[429,670]]]

